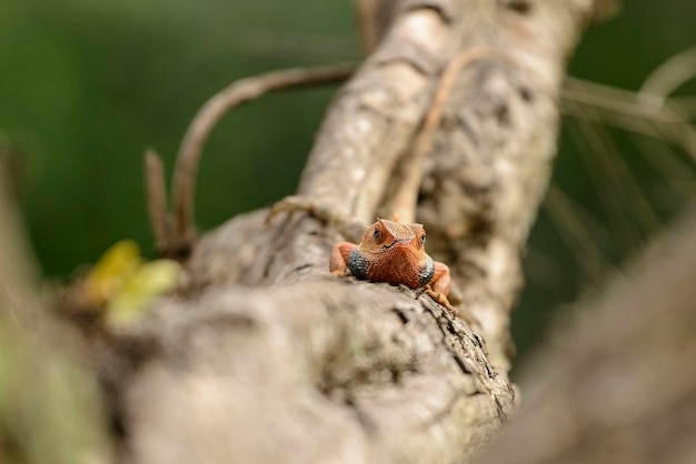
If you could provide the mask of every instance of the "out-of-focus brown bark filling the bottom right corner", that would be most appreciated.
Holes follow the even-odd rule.
[[[696,462],[696,219],[557,321],[491,463]]]

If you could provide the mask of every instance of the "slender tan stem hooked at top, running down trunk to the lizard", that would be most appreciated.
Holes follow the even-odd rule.
[[[399,218],[399,221],[414,222],[416,220],[416,205],[418,203],[418,191],[422,180],[425,160],[432,145],[432,137],[440,125],[443,110],[445,109],[445,103],[447,102],[457,75],[467,64],[494,57],[505,58],[510,61],[514,60],[501,50],[488,47],[476,47],[461,51],[449,62],[445,72],[443,72],[430,110],[426,114],[426,120],[414,143],[414,150],[407,160],[409,169],[406,170],[404,179],[394,195],[392,209],[395,214]]]

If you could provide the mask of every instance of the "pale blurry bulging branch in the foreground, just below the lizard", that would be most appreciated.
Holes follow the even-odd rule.
[[[513,407],[473,332],[387,285],[226,288],[163,305],[138,336],[179,360],[128,389],[139,462],[455,461]],[[471,407],[480,425],[461,426]]]

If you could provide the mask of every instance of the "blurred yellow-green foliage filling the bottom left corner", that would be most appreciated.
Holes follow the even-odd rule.
[[[51,346],[6,315],[0,303],[0,462],[110,462],[97,385]],[[54,340],[53,340],[54,341]]]

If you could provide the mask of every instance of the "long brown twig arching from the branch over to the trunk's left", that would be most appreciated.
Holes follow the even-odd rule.
[[[193,118],[179,149],[172,184],[175,224],[169,241],[169,246],[178,250],[169,251],[186,254],[190,250],[196,235],[192,219],[198,162],[208,135],[228,111],[272,90],[344,81],[354,69],[354,64],[341,64],[272,71],[236,81],[208,100]]]

